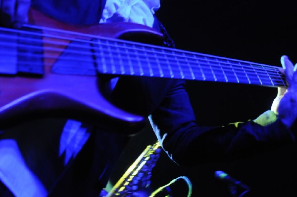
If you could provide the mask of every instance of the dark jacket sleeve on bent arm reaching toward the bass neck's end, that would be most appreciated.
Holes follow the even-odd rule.
[[[180,165],[191,166],[197,161],[245,158],[294,142],[292,132],[277,117],[266,117],[267,113],[254,121],[198,126],[185,82],[179,82],[149,120],[168,156]]]

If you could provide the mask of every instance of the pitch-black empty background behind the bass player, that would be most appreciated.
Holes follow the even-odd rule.
[[[179,49],[281,66],[282,55],[297,62],[296,10],[293,2],[284,0],[163,0],[157,16]],[[200,125],[257,118],[270,109],[277,93],[274,87],[203,81],[188,81],[188,89]],[[112,181],[155,141],[149,127],[135,136]],[[252,189],[245,197],[296,197],[296,159],[296,146],[288,145],[251,158],[187,168],[177,166],[162,152],[152,170],[151,189],[187,176],[193,184],[192,197],[231,197],[228,185],[214,178],[216,170],[223,170]],[[173,197],[187,196],[182,180],[171,189]]]

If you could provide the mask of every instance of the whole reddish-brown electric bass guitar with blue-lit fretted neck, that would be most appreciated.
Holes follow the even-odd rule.
[[[132,23],[65,25],[30,9],[22,29],[0,28],[0,127],[43,115],[142,127],[144,117],[100,93],[101,75],[286,86],[278,67],[151,44],[162,37]]]

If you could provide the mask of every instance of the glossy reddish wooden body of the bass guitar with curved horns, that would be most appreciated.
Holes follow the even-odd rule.
[[[133,38],[136,34],[150,39],[161,39],[161,34],[146,26],[130,23],[90,27],[70,26],[57,22],[34,9],[30,10],[29,18],[29,23],[33,25],[82,34],[67,35],[65,32],[49,32],[47,29],[42,29],[42,34],[54,36],[54,38],[42,38],[43,74],[4,73],[1,75],[0,73],[1,128],[41,117],[73,118],[98,124],[122,134],[132,134],[142,128],[144,117],[118,109],[104,98],[99,89],[99,75],[60,74],[53,72],[53,66],[59,61],[63,50],[71,40],[91,39],[83,34],[112,39]],[[69,39],[57,39],[60,36]],[[53,43],[56,50],[51,50]],[[1,51],[5,51],[4,45],[0,47]],[[5,64],[8,63],[5,62]],[[0,65],[2,67],[0,71],[5,70],[3,65]],[[10,68],[10,65],[8,67]]]

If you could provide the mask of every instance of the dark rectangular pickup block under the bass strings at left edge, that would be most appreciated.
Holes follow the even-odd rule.
[[[0,28],[0,74],[42,76],[43,42],[40,30]]]

